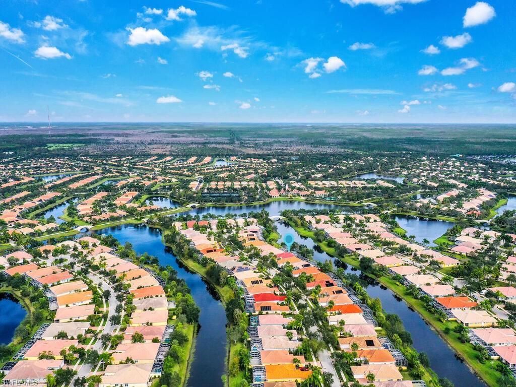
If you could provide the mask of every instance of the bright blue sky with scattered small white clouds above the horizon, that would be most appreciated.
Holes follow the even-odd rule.
[[[512,0],[3,2],[0,121],[516,121]]]

